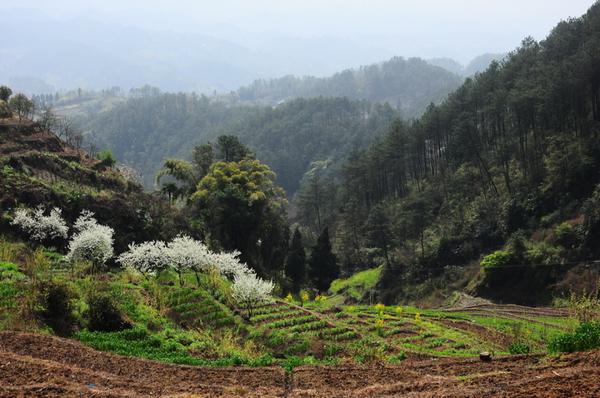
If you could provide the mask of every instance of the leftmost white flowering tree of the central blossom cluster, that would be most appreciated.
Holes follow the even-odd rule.
[[[117,261],[148,277],[148,275],[155,275],[169,266],[166,249],[165,243],[161,241],[132,243]]]

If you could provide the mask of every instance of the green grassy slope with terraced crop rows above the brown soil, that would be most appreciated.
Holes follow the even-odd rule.
[[[199,288],[191,275],[185,287],[173,283],[174,275],[163,275],[160,281],[128,272],[102,278],[73,276],[59,267],[56,254],[31,252],[6,239],[0,239],[0,256],[0,329],[51,333],[43,323],[27,323],[20,317],[25,301],[31,299],[33,280],[53,279],[75,293],[80,327],[74,338],[99,350],[170,363],[285,367],[370,360],[393,363],[406,356],[465,357],[482,350],[508,354],[515,342],[543,353],[554,336],[577,325],[570,318],[536,314],[514,319],[504,313],[339,305],[335,297],[304,307],[278,300],[258,308],[245,321],[231,306],[226,284],[214,288],[208,277]],[[336,286],[368,286],[362,282],[372,280],[375,272],[351,278],[360,283],[338,281]],[[110,295],[133,327],[112,333],[88,331],[86,296],[93,290]],[[479,329],[465,329],[465,325]]]

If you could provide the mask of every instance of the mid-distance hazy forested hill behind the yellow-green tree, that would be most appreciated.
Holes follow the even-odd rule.
[[[312,161],[343,159],[385,133],[398,116],[389,105],[344,98],[297,99],[272,108],[159,94],[130,98],[82,126],[99,146],[138,169],[147,187],[154,185],[165,158],[190,158],[194,145],[236,135],[292,195]]]

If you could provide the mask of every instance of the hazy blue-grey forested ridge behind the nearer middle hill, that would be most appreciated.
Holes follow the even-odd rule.
[[[422,114],[431,102],[444,100],[461,82],[458,75],[420,58],[395,57],[325,78],[285,76],[257,80],[240,88],[238,94],[242,101],[265,104],[319,96],[388,102],[400,108],[405,118],[411,118]]]

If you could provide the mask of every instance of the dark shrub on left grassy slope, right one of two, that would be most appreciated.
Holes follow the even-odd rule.
[[[110,296],[92,295],[88,298],[87,304],[85,318],[90,331],[117,332],[131,327]]]

